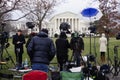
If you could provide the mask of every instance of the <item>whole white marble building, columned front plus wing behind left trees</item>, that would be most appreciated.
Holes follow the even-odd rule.
[[[60,33],[59,26],[62,22],[67,22],[70,25],[70,31],[78,31],[81,33],[87,33],[89,24],[84,20],[80,19],[78,14],[72,12],[64,12],[53,16],[50,20],[44,21],[42,28],[47,28],[49,30],[49,36],[53,37],[54,34]],[[14,21],[11,25],[16,27],[16,29],[28,30],[28,34],[31,33],[31,29],[26,26],[26,21]],[[39,32],[39,28],[35,26],[32,32]]]

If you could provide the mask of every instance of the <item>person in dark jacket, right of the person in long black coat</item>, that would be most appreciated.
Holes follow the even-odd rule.
[[[76,62],[76,66],[80,66],[80,56],[84,50],[84,42],[81,37],[79,37],[78,32],[73,34],[73,37],[70,41],[71,49],[73,50],[74,61]]]

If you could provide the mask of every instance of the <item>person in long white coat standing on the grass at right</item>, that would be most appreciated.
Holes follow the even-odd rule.
[[[105,62],[105,53],[107,51],[107,38],[105,37],[105,34],[102,33],[102,36],[99,39],[99,44],[100,44],[100,59],[102,63]]]

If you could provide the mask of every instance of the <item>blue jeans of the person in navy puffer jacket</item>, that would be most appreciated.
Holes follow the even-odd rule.
[[[48,65],[42,64],[42,63],[33,63],[32,64],[32,70],[41,70],[44,72],[48,72]]]

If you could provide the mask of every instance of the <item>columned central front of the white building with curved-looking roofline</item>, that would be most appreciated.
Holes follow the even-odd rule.
[[[72,12],[64,12],[53,16],[47,28],[49,29],[50,36],[54,36],[55,33],[59,34],[60,24],[62,22],[67,22],[70,25],[70,31],[78,31],[79,33],[88,32],[89,24],[79,18],[79,15]]]

